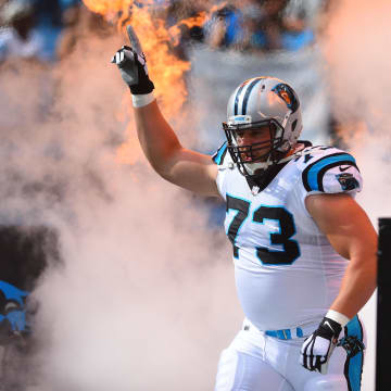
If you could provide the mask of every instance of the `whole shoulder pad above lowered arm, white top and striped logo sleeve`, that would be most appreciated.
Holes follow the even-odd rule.
[[[297,157],[306,191],[336,193],[361,191],[362,177],[355,159],[332,147],[311,147]]]

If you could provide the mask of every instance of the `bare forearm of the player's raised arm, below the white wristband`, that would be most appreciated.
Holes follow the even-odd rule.
[[[173,156],[181,150],[178,138],[163,117],[156,101],[135,108],[135,118],[143,153],[152,167],[166,177]]]

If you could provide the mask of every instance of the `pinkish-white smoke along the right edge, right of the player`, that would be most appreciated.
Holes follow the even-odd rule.
[[[377,229],[391,215],[390,141],[391,39],[387,0],[375,3],[335,2],[323,37],[329,93],[342,137],[356,156],[364,177],[357,201]],[[360,228],[358,228],[360,229]],[[375,389],[376,295],[361,312],[367,329],[363,389]]]

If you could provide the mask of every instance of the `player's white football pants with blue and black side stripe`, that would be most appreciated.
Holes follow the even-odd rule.
[[[353,326],[358,325],[363,338],[361,325],[356,317],[354,319]],[[349,329],[355,331],[355,327]],[[239,331],[220,355],[215,391],[348,391],[344,373],[351,390],[360,391],[363,353],[345,365],[346,352],[337,346],[327,375],[320,375],[299,363],[304,339],[280,340],[254,328]]]

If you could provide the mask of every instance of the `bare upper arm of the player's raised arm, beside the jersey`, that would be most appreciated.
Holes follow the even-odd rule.
[[[171,182],[200,194],[219,197],[217,165],[211,156],[182,148],[171,156],[163,176]]]

